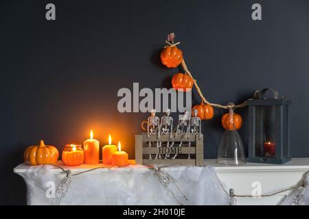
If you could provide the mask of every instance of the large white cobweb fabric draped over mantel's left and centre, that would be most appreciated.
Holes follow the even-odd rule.
[[[51,171],[54,166],[33,166],[21,173],[27,184],[28,205],[52,205],[51,185],[55,190],[65,173]],[[187,196],[173,183],[170,189],[183,205],[227,205],[228,194],[222,189],[212,166],[172,166],[163,168]],[[74,173],[74,172],[73,172]],[[46,195],[47,194],[47,195]],[[71,184],[60,205],[179,205],[155,175],[144,166],[112,168],[71,177]],[[54,203],[54,205],[57,203]]]

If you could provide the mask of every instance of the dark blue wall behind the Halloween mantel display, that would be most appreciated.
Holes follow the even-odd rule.
[[[56,21],[45,20],[49,2]],[[134,134],[148,115],[118,113],[117,90],[133,82],[170,87],[179,70],[159,61],[169,32],[209,101],[240,103],[267,87],[292,99],[291,153],[309,156],[309,1],[258,1],[262,21],[252,21],[255,2],[2,1],[0,203],[25,203],[12,169],[41,138],[61,151],[90,129],[103,143],[112,133],[133,158]],[[206,157],[216,157],[224,112],[203,123]],[[238,112],[247,147],[247,109]]]

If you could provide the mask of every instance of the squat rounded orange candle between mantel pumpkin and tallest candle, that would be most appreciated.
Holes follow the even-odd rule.
[[[84,151],[81,145],[66,144],[62,151],[62,162],[67,166],[78,166],[84,163]]]

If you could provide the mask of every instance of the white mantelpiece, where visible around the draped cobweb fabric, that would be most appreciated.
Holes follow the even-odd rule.
[[[130,164],[134,163],[134,160],[130,160]],[[284,165],[247,163],[241,166],[223,166],[216,164],[216,159],[205,159],[205,164],[214,166],[218,178],[227,190],[233,188],[236,194],[251,194],[258,182],[260,183],[262,194],[270,194],[297,185],[304,176],[304,173],[309,170],[309,157],[293,158]],[[73,172],[82,172],[96,167],[107,167],[87,172],[87,174],[100,172],[104,174],[104,172],[111,171],[110,168],[113,168],[104,164],[64,166],[60,161],[58,165],[62,166],[62,168],[73,170]],[[141,171],[141,173],[151,171],[148,168],[139,168],[140,166],[138,165],[131,167],[137,168],[137,171]],[[14,172],[23,175],[25,172],[31,172],[33,168],[33,166],[28,166],[27,164],[19,164],[19,166],[14,168]],[[185,168],[185,166],[169,166],[167,168],[173,170],[173,168]],[[131,170],[131,168],[127,169]],[[51,167],[50,170],[52,174],[64,174],[60,168]],[[278,205],[290,192],[282,192],[275,196],[263,198],[237,198],[237,205]]]

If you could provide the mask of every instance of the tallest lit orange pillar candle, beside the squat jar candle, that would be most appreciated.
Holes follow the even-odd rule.
[[[99,164],[100,142],[93,139],[93,132],[90,131],[90,138],[84,141],[84,164]]]

